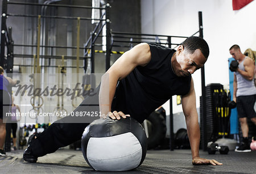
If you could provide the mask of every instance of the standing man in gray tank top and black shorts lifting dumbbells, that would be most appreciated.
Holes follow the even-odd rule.
[[[250,152],[248,140],[249,127],[247,118],[256,125],[256,113],[254,104],[256,100],[256,87],[254,85],[255,65],[251,58],[242,54],[238,45],[233,45],[229,49],[232,57],[238,61],[239,65],[234,71],[234,94],[233,100],[237,103],[237,112],[242,129],[242,143],[236,152]]]

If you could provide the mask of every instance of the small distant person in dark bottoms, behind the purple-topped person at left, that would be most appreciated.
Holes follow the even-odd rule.
[[[14,97],[11,96],[11,114],[12,114],[12,117],[11,117],[11,130],[13,131],[13,149],[14,150],[17,150],[16,148],[16,131],[17,131],[17,127],[18,127],[18,124],[17,124],[17,119],[16,119],[16,110],[18,109],[18,111],[20,112],[20,108],[18,105],[14,104]],[[15,117],[14,117],[15,115]]]

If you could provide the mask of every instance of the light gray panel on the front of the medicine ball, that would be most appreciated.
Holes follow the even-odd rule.
[[[128,171],[141,162],[142,147],[129,132],[113,137],[90,138],[86,154],[96,171]]]

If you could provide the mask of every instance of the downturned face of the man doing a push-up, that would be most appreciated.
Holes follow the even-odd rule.
[[[178,77],[185,77],[195,73],[195,71],[203,67],[204,63],[207,61],[200,49],[196,49],[193,54],[189,54],[183,48],[177,50],[176,60],[178,66],[176,67],[175,74]]]

